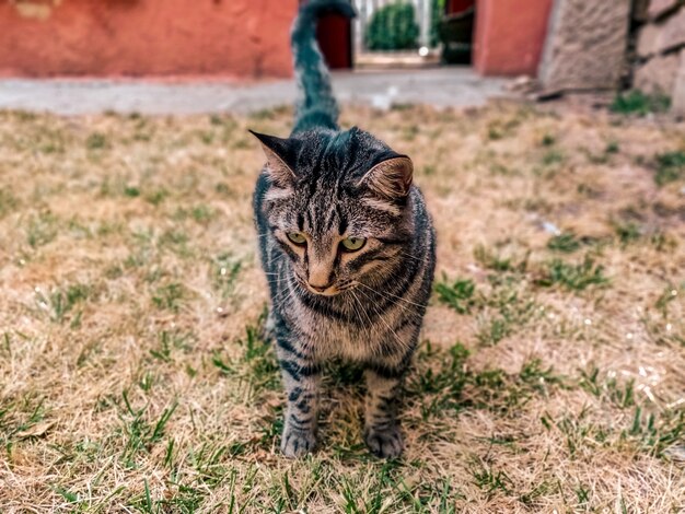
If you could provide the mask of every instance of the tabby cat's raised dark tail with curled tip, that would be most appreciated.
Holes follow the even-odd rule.
[[[333,96],[330,74],[316,43],[318,19],[333,12],[355,17],[349,0],[310,0],[300,8],[292,25],[292,54],[300,90],[293,133],[316,127],[338,128],[338,105]]]

